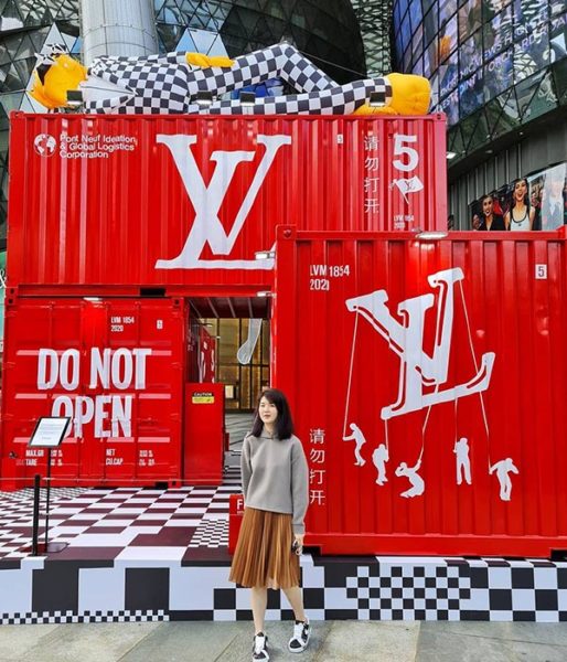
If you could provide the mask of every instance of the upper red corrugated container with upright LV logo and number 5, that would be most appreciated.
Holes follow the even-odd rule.
[[[278,224],[445,228],[445,116],[11,116],[12,286],[269,285]]]

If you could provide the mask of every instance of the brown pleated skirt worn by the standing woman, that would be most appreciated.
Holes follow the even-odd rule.
[[[245,508],[229,581],[246,587],[299,586],[291,515]]]

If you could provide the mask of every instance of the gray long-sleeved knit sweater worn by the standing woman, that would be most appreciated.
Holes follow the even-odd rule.
[[[304,533],[308,468],[301,441],[247,435],[240,457],[244,503],[250,508],[293,515],[293,533]]]

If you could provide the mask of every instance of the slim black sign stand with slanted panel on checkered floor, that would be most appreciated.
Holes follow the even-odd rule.
[[[46,492],[45,492],[45,542],[39,543],[39,523],[40,523],[40,476],[35,476],[34,480],[34,499],[33,499],[33,527],[32,527],[32,556],[38,554],[47,554],[61,552],[67,546],[67,543],[50,543],[50,496],[51,496],[51,451],[57,448],[63,441],[71,418],[68,416],[43,416],[38,419],[35,429],[28,442],[29,448],[46,448],[47,449],[47,474],[46,474]]]

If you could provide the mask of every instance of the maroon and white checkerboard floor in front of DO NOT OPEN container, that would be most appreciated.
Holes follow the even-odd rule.
[[[203,549],[227,553],[228,500],[240,491],[238,467],[220,487],[52,489],[49,542],[57,558],[191,560]],[[40,542],[44,540],[42,490]],[[0,492],[0,559],[29,556],[33,491]]]

